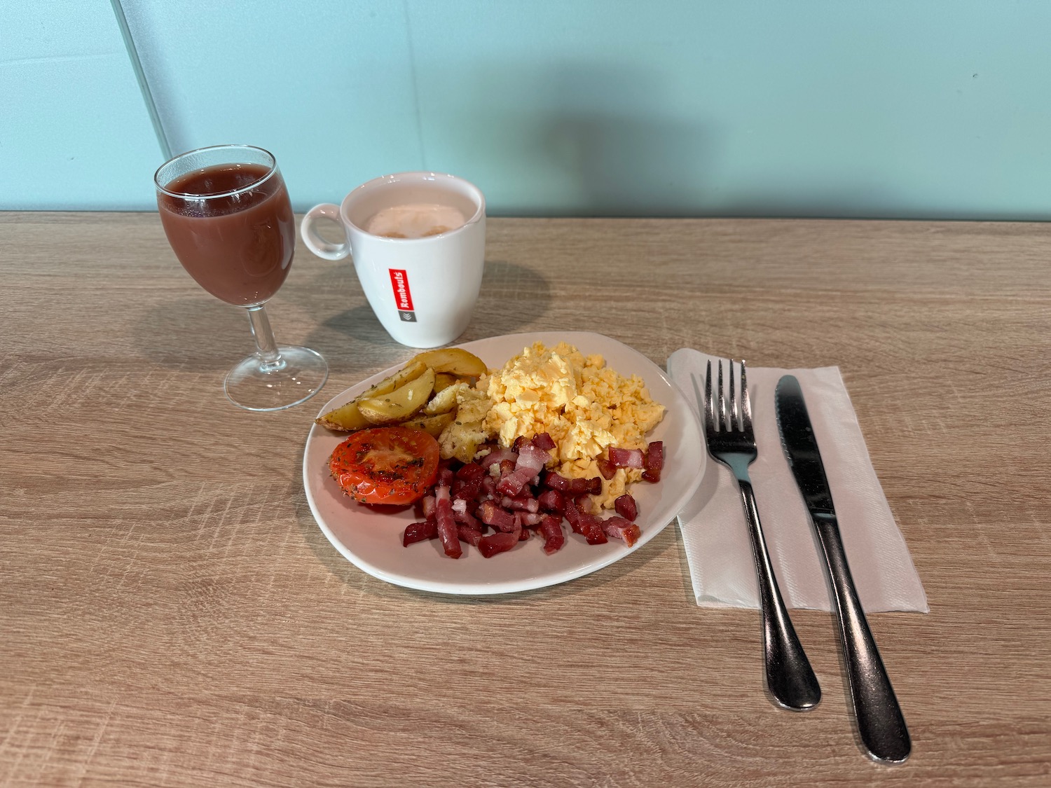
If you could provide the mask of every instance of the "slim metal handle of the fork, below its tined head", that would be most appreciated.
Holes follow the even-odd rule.
[[[806,652],[791,625],[788,610],[774,576],[774,565],[766,551],[763,527],[759,522],[756,494],[747,478],[738,477],[741,503],[748,520],[751,554],[756,559],[759,577],[759,602],[763,614],[763,650],[766,663],[766,686],[774,699],[785,708],[805,711],[821,700],[821,687]]]

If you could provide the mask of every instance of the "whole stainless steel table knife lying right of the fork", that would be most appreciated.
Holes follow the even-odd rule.
[[[803,390],[794,375],[785,375],[778,381],[775,405],[781,444],[810,513],[810,522],[832,581],[858,731],[873,759],[901,763],[912,749],[909,731],[858,601],[836,520],[832,493],[825,478],[825,466],[810,426]]]

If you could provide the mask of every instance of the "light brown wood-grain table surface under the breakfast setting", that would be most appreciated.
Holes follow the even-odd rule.
[[[758,613],[696,605],[674,524],[500,597],[344,560],[303,491],[311,418],[414,352],[349,263],[297,249],[271,320],[331,375],[257,414],[222,392],[244,315],[156,214],[0,214],[0,784],[1051,785],[1049,261],[1040,224],[490,222],[462,341],[839,365],[930,602],[870,617],[913,741],[887,767],[832,617],[792,615],[821,705],[776,708]]]

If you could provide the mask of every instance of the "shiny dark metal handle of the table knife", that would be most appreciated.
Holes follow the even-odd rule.
[[[821,549],[836,595],[836,615],[843,640],[850,697],[862,743],[877,761],[901,763],[909,756],[912,743],[894,689],[865,620],[850,567],[843,552],[834,515],[812,515]]]

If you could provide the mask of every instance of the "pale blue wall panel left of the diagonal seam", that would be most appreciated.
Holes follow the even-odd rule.
[[[0,0],[0,209],[140,209],[158,144],[108,3]]]

